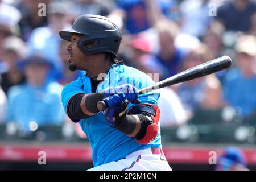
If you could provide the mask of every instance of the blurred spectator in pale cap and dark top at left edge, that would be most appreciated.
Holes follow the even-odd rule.
[[[19,63],[26,56],[26,44],[16,36],[9,36],[3,41],[3,62],[7,66],[5,73],[1,74],[1,86],[7,94],[11,86],[22,84],[25,76],[19,68]]]

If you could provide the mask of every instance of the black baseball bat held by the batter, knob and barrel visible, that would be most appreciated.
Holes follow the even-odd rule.
[[[164,88],[166,86],[179,84],[184,81],[193,80],[199,77],[203,77],[206,75],[210,75],[212,73],[221,71],[223,69],[227,69],[232,65],[232,60],[229,56],[221,56],[217,59],[210,60],[206,63],[197,65],[195,67],[189,68],[183,72],[177,73],[174,76],[166,78],[163,81],[160,81],[154,85],[147,86],[146,88],[138,90],[139,95],[143,93],[148,93],[155,89]],[[106,103],[104,101],[99,101],[97,103],[98,110],[104,111],[106,107]]]

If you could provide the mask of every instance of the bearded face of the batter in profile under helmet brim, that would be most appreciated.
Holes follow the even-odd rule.
[[[71,71],[76,71],[76,69],[85,69],[84,60],[86,59],[86,55],[77,47],[77,42],[80,37],[81,35],[72,35],[71,43],[67,47],[68,64]]]

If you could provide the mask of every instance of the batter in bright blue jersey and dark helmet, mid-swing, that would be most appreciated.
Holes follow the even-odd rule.
[[[60,37],[71,42],[69,69],[85,71],[65,85],[62,101],[69,118],[88,136],[94,164],[90,170],[171,170],[162,151],[160,94],[138,94],[154,81],[117,60],[122,39],[118,27],[104,16],[81,15]],[[104,112],[98,101],[108,105]]]

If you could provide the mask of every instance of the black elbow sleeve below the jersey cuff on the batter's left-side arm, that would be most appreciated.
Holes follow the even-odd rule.
[[[81,119],[88,118],[89,115],[86,115],[80,106],[80,103],[82,101],[82,97],[84,97],[85,94],[78,94],[76,96],[73,96],[71,100],[69,101],[68,108],[67,108],[67,114],[69,118],[73,122],[79,122]]]

